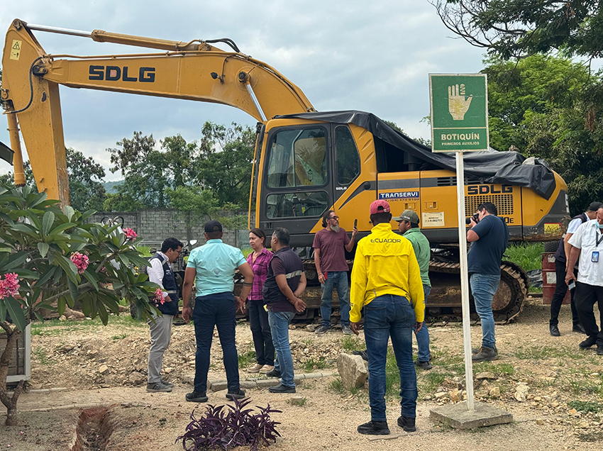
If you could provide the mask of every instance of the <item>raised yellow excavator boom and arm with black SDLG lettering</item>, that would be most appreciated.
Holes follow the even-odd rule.
[[[16,116],[40,191],[69,203],[65,140],[59,85],[148,96],[213,102],[239,108],[265,123],[277,114],[314,111],[304,93],[276,69],[240,52],[224,52],[206,41],[170,40],[94,30],[99,42],[168,50],[135,55],[48,55],[31,29],[86,37],[87,32],[31,26],[15,20],[6,33],[2,57],[2,99]],[[238,50],[231,40],[216,40]],[[214,41],[212,41],[214,42]],[[15,162],[21,144],[14,117],[9,120]],[[18,154],[18,155],[17,155]],[[15,167],[16,183],[23,184]]]

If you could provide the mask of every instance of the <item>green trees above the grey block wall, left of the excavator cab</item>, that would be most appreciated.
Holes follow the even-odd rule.
[[[160,148],[153,135],[140,132],[117,144],[121,149],[108,149],[114,164],[111,172],[120,171],[123,183],[118,194],[107,196],[106,211],[173,207],[201,217],[209,215],[214,200],[218,206],[247,206],[255,147],[255,133],[248,126],[233,123],[227,128],[206,122],[199,141],[168,136]],[[210,192],[201,194],[204,191]],[[191,199],[199,200],[199,207]]]

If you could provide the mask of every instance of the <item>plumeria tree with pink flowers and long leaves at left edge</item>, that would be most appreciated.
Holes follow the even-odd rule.
[[[30,188],[0,189],[0,327],[6,347],[0,356],[0,401],[6,425],[16,425],[19,382],[12,396],[6,390],[11,353],[40,308],[73,308],[78,301],[86,316],[102,323],[118,313],[121,299],[134,301],[150,318],[149,297],[157,285],[135,267],[148,266],[135,247],[140,238],[118,225],[86,223],[94,211],[80,213],[46,199]]]

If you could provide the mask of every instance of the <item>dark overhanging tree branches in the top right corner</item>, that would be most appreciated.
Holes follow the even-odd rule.
[[[428,0],[444,25],[471,45],[505,60],[560,50],[603,55],[599,0]]]

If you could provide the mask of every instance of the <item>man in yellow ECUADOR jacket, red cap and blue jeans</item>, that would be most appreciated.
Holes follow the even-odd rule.
[[[392,338],[400,372],[402,415],[398,425],[406,432],[415,428],[416,372],[412,361],[412,328],[424,320],[424,294],[419,263],[409,240],[394,233],[387,201],[370,204],[370,235],[358,242],[352,268],[350,326],[358,335],[360,310],[364,307],[368,353],[371,421],[358,432],[389,434],[385,416],[385,361]],[[412,300],[412,301],[411,301]]]

